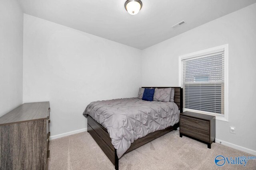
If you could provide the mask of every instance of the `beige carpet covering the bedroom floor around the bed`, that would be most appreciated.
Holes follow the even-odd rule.
[[[224,145],[212,143],[212,149],[172,131],[154,141],[125,154],[119,160],[120,170],[256,170],[256,160],[246,166],[224,164],[216,166],[214,158],[250,156]],[[49,170],[114,170],[114,165],[89,133],[78,133],[50,141]]]

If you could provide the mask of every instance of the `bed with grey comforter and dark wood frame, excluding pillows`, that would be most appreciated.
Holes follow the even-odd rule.
[[[142,87],[170,88],[170,87]],[[174,102],[148,102],[139,98],[97,101],[89,104],[87,131],[118,170],[126,154],[179,126],[182,88],[174,88]]]

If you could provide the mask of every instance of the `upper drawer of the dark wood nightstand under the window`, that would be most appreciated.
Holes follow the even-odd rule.
[[[202,129],[204,131],[210,131],[209,121],[196,119],[188,116],[180,115],[180,124],[189,125],[192,127],[196,127],[198,129]]]

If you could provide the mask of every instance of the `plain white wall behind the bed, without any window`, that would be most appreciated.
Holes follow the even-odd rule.
[[[50,101],[53,136],[86,128],[82,113],[90,102],[138,95],[141,55],[24,14],[23,102]]]

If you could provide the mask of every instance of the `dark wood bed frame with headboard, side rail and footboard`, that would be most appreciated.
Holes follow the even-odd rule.
[[[142,88],[170,88],[170,87],[142,87]],[[174,93],[174,103],[177,104],[179,107],[180,113],[182,113],[183,108],[183,94],[182,94],[182,88],[180,87],[172,87],[175,89]],[[165,135],[166,133],[177,130],[179,127],[179,123],[176,123],[174,126],[167,127],[166,129],[155,131],[152,133],[149,133],[145,137],[139,138],[134,141],[134,143],[131,143],[130,148],[124,153],[128,153],[150,141],[153,141],[154,139]],[[100,148],[103,150],[103,152],[108,156],[109,160],[114,164],[115,169],[118,170],[118,156],[116,154],[116,149],[111,143],[110,136],[108,134],[107,129],[105,129],[102,125],[100,125],[98,122],[96,122],[90,115],[87,117],[87,131],[90,133],[92,138],[96,141],[96,143],[100,146]]]

